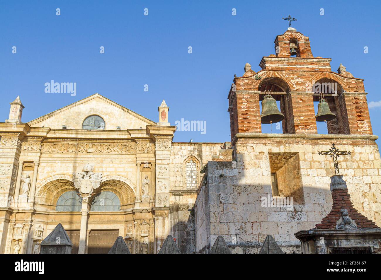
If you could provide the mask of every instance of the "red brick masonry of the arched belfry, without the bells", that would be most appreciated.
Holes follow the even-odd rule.
[[[300,58],[290,58],[289,41],[296,38],[299,42]],[[331,112],[337,119],[328,122],[330,134],[372,134],[363,80],[354,78],[349,72],[341,74],[331,71],[330,58],[312,56],[309,38],[295,31],[288,31],[275,39],[279,53],[263,57],[262,70],[247,70],[242,77],[234,79],[237,100],[232,102],[234,93],[229,94],[229,104],[234,108],[232,139],[239,132],[261,132],[259,110],[259,85],[266,78],[277,77],[288,85],[291,92],[281,102],[283,133],[317,133],[312,85],[320,79],[329,78],[339,83],[344,93],[331,100]],[[242,91],[249,91],[242,93]],[[299,94],[295,94],[299,93]],[[359,94],[356,94],[359,93]]]

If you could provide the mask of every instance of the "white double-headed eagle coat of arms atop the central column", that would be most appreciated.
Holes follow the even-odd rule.
[[[97,189],[102,181],[102,173],[94,173],[94,166],[86,164],[82,172],[73,173],[74,187],[79,189],[82,197],[91,195],[94,189]]]

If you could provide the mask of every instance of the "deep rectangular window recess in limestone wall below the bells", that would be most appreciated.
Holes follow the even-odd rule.
[[[269,153],[272,195],[304,203],[299,153]]]

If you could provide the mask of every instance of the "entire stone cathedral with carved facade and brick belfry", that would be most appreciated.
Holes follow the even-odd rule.
[[[38,253],[58,223],[72,253],[107,253],[122,236],[131,253],[155,254],[167,235],[182,253],[208,253],[218,235],[234,253],[258,253],[269,234],[299,253],[294,234],[332,207],[335,168],[318,154],[332,143],[352,152],[339,168],[355,208],[381,226],[381,160],[363,80],[343,65],[331,71],[330,61],[314,57],[295,29],[278,35],[261,70],[246,64],[234,78],[225,143],[173,142],[165,101],[158,122],[99,94],[22,122],[16,98],[0,123],[0,253]],[[283,134],[261,131],[269,93]],[[321,93],[336,116],[328,134],[317,133]],[[273,207],[267,198],[292,205]]]

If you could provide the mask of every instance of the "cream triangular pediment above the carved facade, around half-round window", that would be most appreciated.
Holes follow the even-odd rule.
[[[147,125],[156,125],[155,122],[139,115],[122,105],[96,93],[80,101],[55,110],[42,117],[28,122],[31,127],[45,127],[51,129],[82,129],[83,121],[91,115],[97,115],[104,120],[105,130],[145,129]]]

